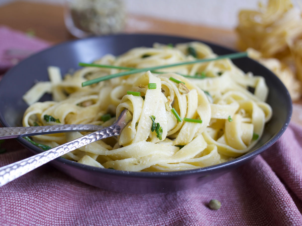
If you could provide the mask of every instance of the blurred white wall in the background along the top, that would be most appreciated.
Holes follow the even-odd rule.
[[[0,5],[14,0],[0,0]],[[64,0],[28,0],[63,4]],[[233,28],[240,9],[256,9],[259,0],[123,0],[132,14],[158,17],[191,24]],[[263,0],[266,2],[267,0]],[[292,0],[295,5],[297,1]]]

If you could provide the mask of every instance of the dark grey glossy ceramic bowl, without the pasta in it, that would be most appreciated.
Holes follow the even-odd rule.
[[[194,41],[188,38],[162,35],[114,35],[92,37],[65,42],[37,53],[9,70],[0,82],[0,122],[5,127],[21,126],[22,115],[27,104],[22,95],[34,85],[35,80],[48,80],[47,67],[61,68],[65,74],[70,68],[77,69],[79,62],[91,62],[111,53],[119,55],[138,46],[152,46],[154,42],[180,43]],[[218,55],[234,51],[205,42]],[[84,183],[112,191],[128,193],[159,193],[186,190],[207,183],[216,177],[244,164],[263,152],[282,135],[291,119],[292,105],[289,93],[283,83],[268,69],[249,58],[233,60],[243,71],[252,71],[265,78],[269,87],[268,104],[273,117],[265,125],[264,134],[252,150],[230,162],[200,169],[175,172],[130,172],[101,169],[58,158],[50,162],[64,173]],[[42,101],[50,100],[43,96]],[[23,146],[34,152],[41,149],[24,139],[17,139]]]

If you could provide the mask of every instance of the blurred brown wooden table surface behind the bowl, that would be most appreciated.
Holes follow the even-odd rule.
[[[73,39],[64,24],[64,8],[59,5],[13,2],[0,7],[0,25],[27,32],[53,44]],[[156,33],[178,35],[214,42],[236,49],[233,30],[182,24],[150,17],[128,15],[125,33]],[[302,125],[302,101],[294,104],[292,121]]]

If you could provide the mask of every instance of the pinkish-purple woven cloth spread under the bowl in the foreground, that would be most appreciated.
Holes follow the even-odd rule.
[[[2,36],[0,33],[0,43]],[[1,145],[0,167],[32,155]],[[210,199],[221,202],[211,210]],[[0,188],[0,225],[302,225],[302,127],[200,187],[162,194],[102,190],[43,165]]]

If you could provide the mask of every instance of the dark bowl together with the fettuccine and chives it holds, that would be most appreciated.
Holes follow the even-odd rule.
[[[212,43],[162,35],[65,42],[5,74],[0,122],[5,127],[108,126],[127,108],[133,118],[120,136],[50,163],[107,190],[186,190],[260,154],[291,119],[291,98],[283,83],[238,54]],[[17,140],[38,153],[43,150],[37,144],[52,148],[87,133]]]

